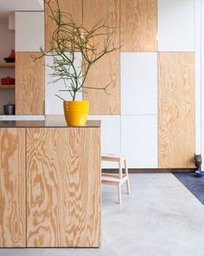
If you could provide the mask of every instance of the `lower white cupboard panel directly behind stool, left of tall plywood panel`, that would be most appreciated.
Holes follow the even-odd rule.
[[[121,152],[131,168],[157,167],[157,115],[121,116]]]

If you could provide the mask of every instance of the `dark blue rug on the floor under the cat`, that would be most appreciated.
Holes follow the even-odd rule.
[[[194,173],[172,173],[175,177],[204,204],[204,177],[198,178]]]

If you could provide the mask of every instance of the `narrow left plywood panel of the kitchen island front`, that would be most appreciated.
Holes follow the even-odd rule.
[[[25,129],[0,128],[0,141],[0,247],[24,247]]]

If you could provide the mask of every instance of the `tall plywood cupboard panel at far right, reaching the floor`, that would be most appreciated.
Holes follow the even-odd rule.
[[[160,53],[159,167],[194,167],[194,53]]]

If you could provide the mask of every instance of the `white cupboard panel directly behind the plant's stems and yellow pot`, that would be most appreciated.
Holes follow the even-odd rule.
[[[77,58],[75,60],[76,66],[81,67],[81,56],[77,54]],[[56,95],[60,95],[66,101],[71,101],[72,98],[70,94],[66,91],[60,92],[60,89],[66,89],[65,83],[63,80],[58,82],[54,82],[58,77],[53,77],[53,69],[48,66],[53,64],[53,57],[46,56],[45,57],[45,115],[63,115],[63,101],[57,97]],[[78,70],[80,71],[80,70]],[[82,93],[78,93],[76,100],[82,100]]]

